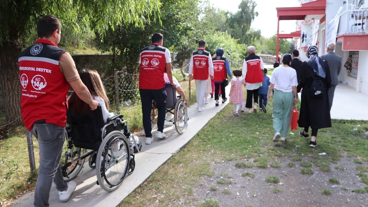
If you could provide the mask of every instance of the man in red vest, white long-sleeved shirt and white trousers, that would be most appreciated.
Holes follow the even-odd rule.
[[[203,101],[208,76],[213,79],[213,63],[211,54],[206,50],[206,42],[201,39],[198,43],[198,50],[193,52],[189,63],[189,80],[195,82],[195,97],[197,98],[198,111],[202,112]]]

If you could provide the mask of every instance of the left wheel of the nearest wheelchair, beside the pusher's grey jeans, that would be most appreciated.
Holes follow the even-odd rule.
[[[86,149],[73,146],[66,149],[67,151],[61,155],[60,167],[65,181],[69,181],[77,177],[81,172],[85,159],[81,159],[81,155],[86,153]]]

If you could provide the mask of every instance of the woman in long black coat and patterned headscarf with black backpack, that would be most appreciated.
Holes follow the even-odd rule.
[[[330,105],[327,91],[331,87],[331,75],[328,64],[318,57],[318,48],[311,45],[307,49],[308,60],[301,65],[300,82],[297,91],[301,92],[300,116],[298,119],[299,127],[304,127],[299,135],[309,139],[308,130],[311,127],[311,140],[309,147],[317,145],[316,136],[318,129],[331,127]],[[312,94],[317,83],[321,83],[321,90]],[[320,97],[315,97],[319,95]]]

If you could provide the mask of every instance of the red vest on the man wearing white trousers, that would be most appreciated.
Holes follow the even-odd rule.
[[[209,76],[208,64],[209,52],[199,48],[193,53],[193,78],[195,80],[207,80]]]

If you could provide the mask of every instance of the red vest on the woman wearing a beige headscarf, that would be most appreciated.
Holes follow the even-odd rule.
[[[261,83],[263,82],[263,74],[261,69],[261,58],[254,53],[248,55],[244,59],[247,62],[247,75],[245,82],[247,83]]]

